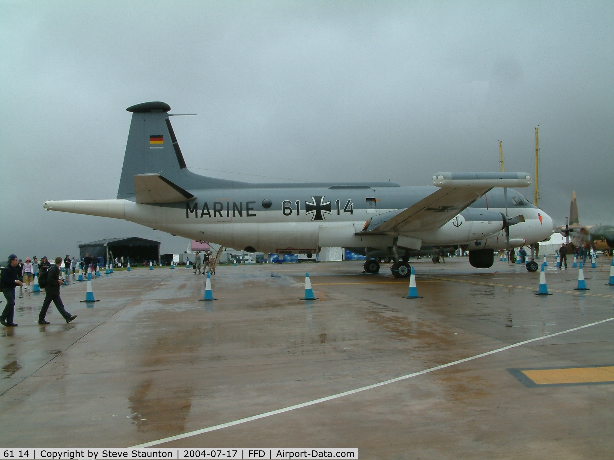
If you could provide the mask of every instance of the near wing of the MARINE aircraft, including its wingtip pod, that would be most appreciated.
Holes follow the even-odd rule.
[[[403,234],[440,228],[493,187],[528,187],[530,175],[506,173],[450,173],[433,176],[439,190],[405,210],[371,218],[359,234]]]

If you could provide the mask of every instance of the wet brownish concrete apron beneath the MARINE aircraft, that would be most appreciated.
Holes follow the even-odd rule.
[[[360,263],[220,267],[214,302],[185,268],[62,288],[65,324],[17,299],[0,330],[0,444],[128,446],[416,372],[614,316],[607,272],[416,261],[407,280]],[[305,271],[318,301],[299,301]],[[501,273],[493,273],[500,271]],[[604,281],[606,280],[606,281]],[[165,446],[359,447],[362,458],[611,458],[614,385],[527,388],[507,369],[614,364],[604,323],[432,374]]]

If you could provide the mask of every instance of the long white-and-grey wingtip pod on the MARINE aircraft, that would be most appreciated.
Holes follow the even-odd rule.
[[[531,185],[526,172],[438,172],[433,175],[437,187],[515,187]]]

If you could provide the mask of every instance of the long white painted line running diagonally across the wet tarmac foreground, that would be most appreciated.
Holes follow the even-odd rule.
[[[401,377],[395,377],[395,378],[391,378],[390,380],[384,380],[379,383],[373,383],[373,385],[362,386],[360,388],[351,389],[349,391],[344,391],[343,393],[337,393],[331,396],[314,399],[313,401],[307,401],[307,402],[302,402],[301,404],[290,405],[288,407],[284,407],[281,409],[271,410],[270,412],[265,412],[265,413],[261,413],[258,415],[252,415],[251,417],[241,418],[239,420],[230,421],[227,423],[221,423],[215,426],[209,426],[208,428],[202,428],[200,430],[190,431],[184,434],[177,434],[175,436],[170,436],[168,438],[146,442],[144,444],[139,444],[133,447],[156,446],[156,445],[163,444],[165,442],[185,439],[188,437],[196,436],[198,434],[208,433],[210,431],[220,430],[222,428],[227,428],[229,426],[235,426],[241,423],[247,423],[249,421],[258,420],[260,418],[270,417],[271,415],[277,415],[279,413],[290,412],[290,410],[296,410],[302,407],[308,407],[310,405],[319,404],[321,402],[331,401],[332,399],[337,399],[338,397],[349,396],[350,394],[360,393],[361,391],[367,391],[368,389],[378,388],[378,386],[389,385],[390,383],[395,383],[395,381],[406,380],[411,377],[418,377],[418,375],[429,374],[430,372],[435,372],[435,370],[446,369],[446,367],[456,366],[456,364],[462,364],[463,362],[467,362],[467,361],[473,361],[473,359],[478,359],[478,358],[483,358],[484,356],[494,355],[495,353],[500,353],[501,351],[510,350],[511,348],[522,347],[523,345],[527,345],[527,343],[538,342],[539,340],[544,340],[544,339],[550,339],[551,337],[556,337],[557,335],[567,334],[567,332],[579,331],[580,329],[590,328],[591,326],[597,326],[597,324],[607,323],[608,321],[612,321],[612,320],[614,320],[614,317],[607,318],[607,320],[596,321],[595,323],[585,324],[584,326],[578,326],[577,328],[567,329],[566,331],[555,332],[554,334],[544,335],[543,337],[537,337],[535,339],[524,340],[523,342],[512,343],[511,345],[507,345],[507,347],[497,348],[496,350],[486,351],[486,353],[480,353],[480,355],[470,356],[469,358],[463,358],[463,359],[459,359],[458,361],[448,362],[447,364],[441,364],[440,366],[430,367],[429,369],[420,370],[418,372],[412,372],[411,374],[402,375]]]

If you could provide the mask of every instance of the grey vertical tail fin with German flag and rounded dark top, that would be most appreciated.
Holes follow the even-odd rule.
[[[130,132],[123,157],[117,198],[134,196],[134,175],[160,173],[181,186],[184,156],[169,120],[165,102],[144,102],[128,107]]]

